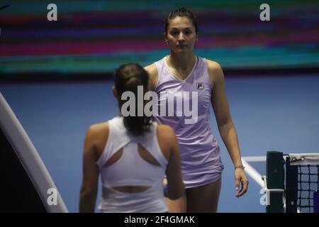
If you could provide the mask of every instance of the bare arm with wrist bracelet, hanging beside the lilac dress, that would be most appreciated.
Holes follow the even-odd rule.
[[[225,143],[230,158],[233,160],[233,164],[236,167],[238,165],[242,165],[242,159],[240,155],[237,133],[233,124],[233,120],[230,116],[230,109],[225,93],[225,79],[223,70],[217,62],[208,60],[208,72],[213,87],[211,94],[211,104],[216,116],[218,130],[223,142]],[[242,189],[236,194],[237,197],[245,194],[248,187],[248,180],[244,170],[237,168],[235,170],[236,188],[240,187],[240,182],[242,182]]]

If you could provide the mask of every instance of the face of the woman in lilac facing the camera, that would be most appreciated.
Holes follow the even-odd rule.
[[[165,34],[169,48],[177,53],[193,52],[197,40],[194,24],[185,16],[169,20]]]

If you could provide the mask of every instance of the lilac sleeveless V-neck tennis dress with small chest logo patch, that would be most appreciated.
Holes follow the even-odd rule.
[[[159,100],[158,114],[154,118],[174,128],[181,150],[185,187],[216,182],[224,167],[219,145],[209,126],[212,88],[206,59],[196,57],[194,68],[186,79],[172,74],[166,57],[155,65],[159,76],[155,92]]]

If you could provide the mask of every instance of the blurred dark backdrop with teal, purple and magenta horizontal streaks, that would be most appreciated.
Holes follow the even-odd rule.
[[[196,54],[229,69],[319,66],[319,1],[0,1],[0,73],[112,72],[125,62],[148,65],[168,54],[164,18],[186,6],[196,13]],[[34,75],[34,74],[33,74]]]

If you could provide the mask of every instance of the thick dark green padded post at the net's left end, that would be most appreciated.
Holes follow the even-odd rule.
[[[284,155],[278,151],[267,151],[266,175],[268,189],[284,189]],[[283,192],[270,193],[267,213],[283,213]]]

